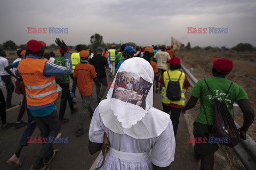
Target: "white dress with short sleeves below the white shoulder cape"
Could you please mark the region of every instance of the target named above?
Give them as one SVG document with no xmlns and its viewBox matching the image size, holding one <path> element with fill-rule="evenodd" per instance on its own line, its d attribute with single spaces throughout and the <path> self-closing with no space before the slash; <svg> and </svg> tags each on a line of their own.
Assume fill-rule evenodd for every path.
<svg viewBox="0 0 256 170">
<path fill-rule="evenodd" d="M 174 160 L 175 138 L 173 134 L 172 122 L 169 121 L 166 129 L 156 138 L 135 139 L 127 134 L 118 134 L 106 128 L 103 124 L 99 106 L 95 109 L 92 117 L 89 139 L 95 143 L 103 142 L 104 132 L 107 133 L 111 148 L 129 153 L 143 153 L 151 150 L 151 155 L 148 159 L 133 161 L 118 159 L 109 154 L 106 155 L 105 164 L 101 169 L 117 169 L 117 170 L 148 170 L 153 169 L 153 165 L 165 167 L 169 166 Z M 101 154 L 97 167 L 102 163 L 103 156 Z"/>
</svg>

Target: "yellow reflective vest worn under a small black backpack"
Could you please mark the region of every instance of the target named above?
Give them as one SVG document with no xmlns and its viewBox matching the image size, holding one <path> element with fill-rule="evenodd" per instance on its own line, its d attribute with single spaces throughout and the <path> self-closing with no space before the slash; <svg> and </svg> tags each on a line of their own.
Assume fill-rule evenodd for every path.
<svg viewBox="0 0 256 170">
<path fill-rule="evenodd" d="M 178 79 L 180 77 L 180 73 L 181 72 L 179 70 L 169 70 L 170 79 L 172 81 L 178 81 Z M 186 89 L 183 88 L 183 83 L 185 81 L 185 73 L 182 73 L 182 75 L 180 77 L 181 98 L 178 101 L 169 100 L 169 98 L 167 98 L 167 96 L 166 96 L 166 88 L 167 88 L 168 82 L 170 81 L 167 71 L 164 72 L 163 78 L 164 78 L 164 86 L 165 87 L 162 87 L 162 98 L 161 98 L 162 103 L 164 103 L 164 104 L 172 103 L 172 104 L 184 106 L 185 105 L 185 94 L 184 93 L 186 92 Z"/>
</svg>

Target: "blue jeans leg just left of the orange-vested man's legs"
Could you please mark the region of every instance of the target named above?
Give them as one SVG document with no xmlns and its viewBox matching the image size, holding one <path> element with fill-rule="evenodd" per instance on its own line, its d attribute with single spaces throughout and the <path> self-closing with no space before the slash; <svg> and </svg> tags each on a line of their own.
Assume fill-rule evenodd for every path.
<svg viewBox="0 0 256 170">
<path fill-rule="evenodd" d="M 27 128 L 24 130 L 22 137 L 20 139 L 19 145 L 21 145 L 21 146 L 28 146 L 28 137 L 31 137 L 34 130 L 36 129 L 36 122 L 31 123 L 32 121 L 35 120 L 35 117 L 33 115 L 31 115 L 31 113 L 29 112 L 29 109 L 27 108 L 27 99 L 25 101 L 25 107 L 26 107 L 27 115 L 28 115 L 28 125 L 27 125 Z"/>
</svg>

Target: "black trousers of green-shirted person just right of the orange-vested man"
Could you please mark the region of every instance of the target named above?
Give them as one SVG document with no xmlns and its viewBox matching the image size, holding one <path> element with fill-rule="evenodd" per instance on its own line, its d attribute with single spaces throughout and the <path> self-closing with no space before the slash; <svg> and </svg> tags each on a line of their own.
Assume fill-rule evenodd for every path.
<svg viewBox="0 0 256 170">
<path fill-rule="evenodd" d="M 60 86 L 62 88 L 61 92 L 61 99 L 60 99 L 60 115 L 59 118 L 60 120 L 63 120 L 64 114 L 66 112 L 67 108 L 67 101 L 70 107 L 70 111 L 74 111 L 74 105 L 72 98 L 70 97 L 70 90 L 69 90 L 69 83 L 63 84 Z"/>
</svg>

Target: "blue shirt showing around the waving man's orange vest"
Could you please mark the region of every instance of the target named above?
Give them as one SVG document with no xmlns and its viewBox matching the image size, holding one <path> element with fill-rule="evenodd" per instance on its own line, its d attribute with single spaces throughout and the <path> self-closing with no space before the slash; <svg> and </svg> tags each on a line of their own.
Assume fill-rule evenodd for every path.
<svg viewBox="0 0 256 170">
<path fill-rule="evenodd" d="M 71 57 L 69 53 L 65 53 L 65 66 L 60 66 L 54 63 L 51 63 L 50 61 L 47 61 L 44 65 L 43 75 L 45 77 L 51 77 L 51 75 L 66 75 L 66 74 L 72 74 L 72 63 L 71 63 Z M 41 57 L 38 57 L 34 54 L 29 54 L 28 56 L 23 57 L 25 58 L 39 58 L 43 60 Z M 18 62 L 15 62 L 18 63 Z M 13 63 L 15 65 L 15 63 Z M 19 75 L 19 71 L 16 72 L 16 75 Z M 42 105 L 42 106 L 30 106 L 28 105 L 28 109 L 31 112 L 33 116 L 36 117 L 43 117 L 51 114 L 53 111 L 56 110 L 56 106 L 54 105 L 54 102 Z"/>
</svg>

